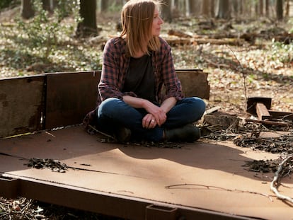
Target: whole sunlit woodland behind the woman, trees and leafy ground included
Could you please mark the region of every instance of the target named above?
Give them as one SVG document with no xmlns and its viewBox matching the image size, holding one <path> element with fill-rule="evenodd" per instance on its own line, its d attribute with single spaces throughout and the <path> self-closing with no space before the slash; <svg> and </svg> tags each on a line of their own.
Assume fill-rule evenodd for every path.
<svg viewBox="0 0 293 220">
<path fill-rule="evenodd" d="M 176 69 L 208 73 L 207 108 L 243 114 L 246 98 L 257 95 L 272 98 L 274 110 L 293 111 L 292 1 L 165 2 L 161 36 L 172 47 Z M 123 4 L 124 0 L 1 0 L 0 79 L 100 70 L 105 42 L 119 33 Z M 15 219 L 16 203 L 31 207 L 31 219 L 34 214 L 102 219 L 56 207 L 44 210 L 25 198 L 0 197 L 0 202 L 9 207 L 6 216 Z"/>
</svg>

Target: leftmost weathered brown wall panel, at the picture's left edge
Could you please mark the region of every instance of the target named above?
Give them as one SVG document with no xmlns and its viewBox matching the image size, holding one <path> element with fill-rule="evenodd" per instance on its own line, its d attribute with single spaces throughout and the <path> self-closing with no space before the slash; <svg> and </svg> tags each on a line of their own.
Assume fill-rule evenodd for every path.
<svg viewBox="0 0 293 220">
<path fill-rule="evenodd" d="M 0 80 L 0 137 L 41 129 L 45 76 Z"/>
</svg>

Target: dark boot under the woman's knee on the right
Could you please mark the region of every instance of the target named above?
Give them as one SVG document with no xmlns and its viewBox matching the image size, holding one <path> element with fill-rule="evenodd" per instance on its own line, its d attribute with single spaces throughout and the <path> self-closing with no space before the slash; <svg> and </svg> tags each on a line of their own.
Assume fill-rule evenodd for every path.
<svg viewBox="0 0 293 220">
<path fill-rule="evenodd" d="M 200 138 L 200 129 L 194 125 L 165 129 L 165 137 L 166 141 L 193 142 Z"/>
</svg>

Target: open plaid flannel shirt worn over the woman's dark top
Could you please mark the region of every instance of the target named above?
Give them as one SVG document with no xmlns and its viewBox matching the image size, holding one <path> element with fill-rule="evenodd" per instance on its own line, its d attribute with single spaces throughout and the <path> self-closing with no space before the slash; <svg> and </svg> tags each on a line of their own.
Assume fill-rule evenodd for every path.
<svg viewBox="0 0 293 220">
<path fill-rule="evenodd" d="M 166 98 L 174 97 L 176 100 L 183 98 L 180 80 L 175 71 L 171 47 L 159 37 L 161 49 L 152 52 L 151 63 L 154 69 L 156 101 L 161 103 Z M 108 40 L 103 52 L 103 67 L 98 83 L 97 108 L 107 98 L 119 98 L 124 95 L 137 97 L 133 92 L 122 93 L 125 76 L 130 66 L 130 56 L 127 55 L 125 40 L 114 37 Z M 161 94 L 164 87 L 165 94 Z M 96 109 L 97 109 L 96 108 Z M 84 118 L 84 126 L 94 125 L 96 110 L 93 110 Z"/>
</svg>

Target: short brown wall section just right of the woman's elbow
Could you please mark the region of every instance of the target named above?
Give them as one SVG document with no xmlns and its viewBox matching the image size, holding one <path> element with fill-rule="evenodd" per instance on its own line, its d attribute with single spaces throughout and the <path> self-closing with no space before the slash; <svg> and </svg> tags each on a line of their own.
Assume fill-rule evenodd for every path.
<svg viewBox="0 0 293 220">
<path fill-rule="evenodd" d="M 207 73 L 200 69 L 177 70 L 186 97 L 200 97 L 209 99 L 209 82 Z"/>
</svg>

